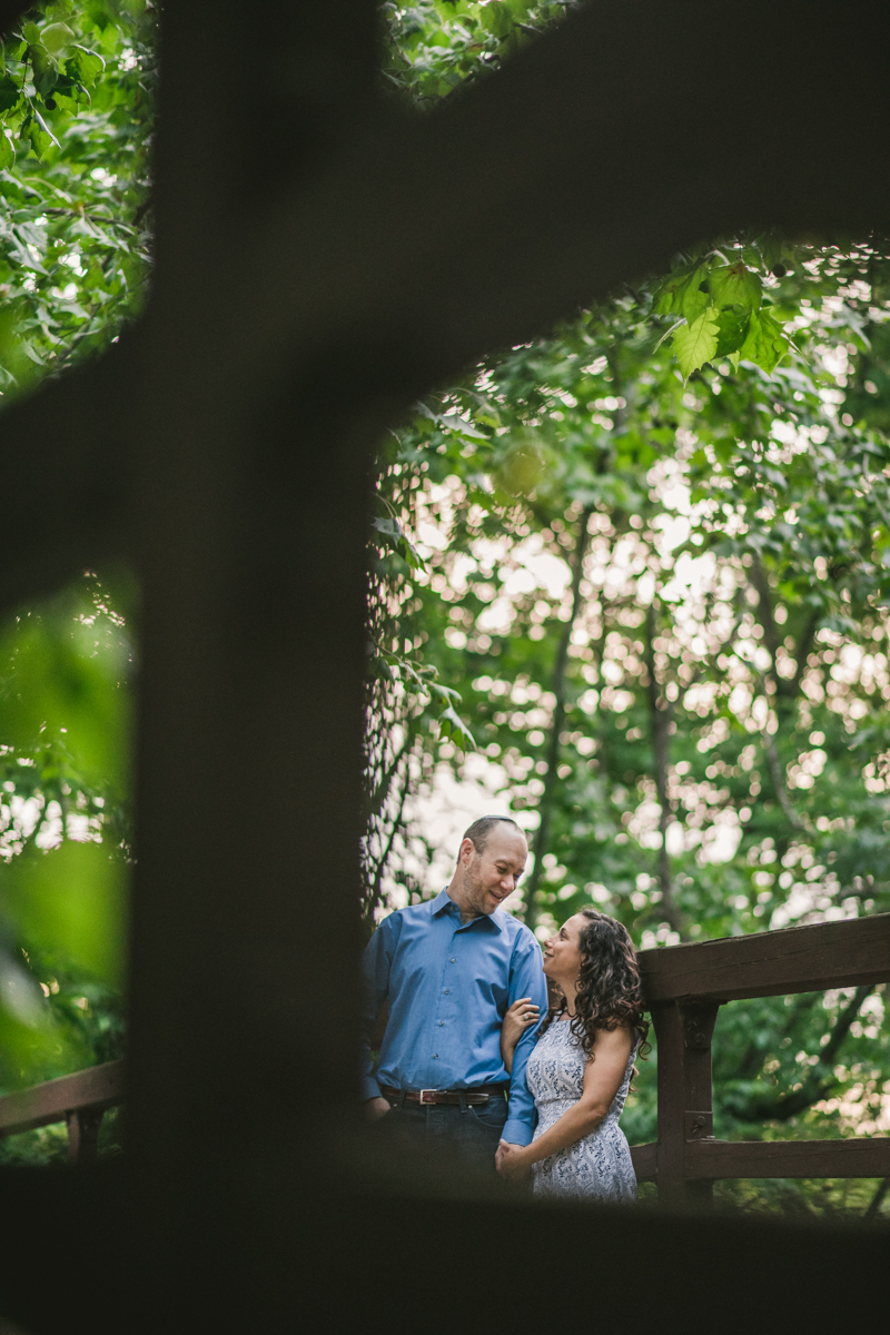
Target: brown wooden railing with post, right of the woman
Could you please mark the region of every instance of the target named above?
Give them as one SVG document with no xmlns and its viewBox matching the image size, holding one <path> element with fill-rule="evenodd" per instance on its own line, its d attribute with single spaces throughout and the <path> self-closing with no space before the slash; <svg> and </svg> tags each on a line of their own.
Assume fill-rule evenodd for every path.
<svg viewBox="0 0 890 1335">
<path fill-rule="evenodd" d="M 717 1140 L 711 1036 L 742 997 L 890 981 L 890 913 L 640 951 L 658 1044 L 658 1141 L 634 1145 L 640 1181 L 666 1204 L 707 1204 L 723 1177 L 890 1177 L 890 1137 Z"/>
</svg>

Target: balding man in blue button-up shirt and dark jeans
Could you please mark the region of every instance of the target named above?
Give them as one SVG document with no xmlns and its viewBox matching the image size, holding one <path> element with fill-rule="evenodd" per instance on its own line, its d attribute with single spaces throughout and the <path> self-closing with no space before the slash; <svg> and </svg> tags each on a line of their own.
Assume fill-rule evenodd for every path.
<svg viewBox="0 0 890 1335">
<path fill-rule="evenodd" d="M 535 1125 L 526 1063 L 536 1025 L 516 1045 L 512 1079 L 500 1056 L 500 1025 L 514 1001 L 530 997 L 540 1016 L 547 1012 L 538 941 L 500 908 L 527 857 L 515 821 L 474 821 L 451 884 L 438 898 L 384 918 L 363 961 L 368 1116 L 394 1119 L 388 1131 L 399 1140 L 440 1144 L 491 1173 L 499 1141 L 527 1145 Z M 370 1033 L 384 1005 L 375 1068 Z"/>
</svg>

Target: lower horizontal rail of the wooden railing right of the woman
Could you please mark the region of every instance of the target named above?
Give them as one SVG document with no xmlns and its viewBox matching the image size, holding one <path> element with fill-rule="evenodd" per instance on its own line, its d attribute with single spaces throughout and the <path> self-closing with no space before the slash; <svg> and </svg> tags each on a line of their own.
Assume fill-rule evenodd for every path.
<svg viewBox="0 0 890 1335">
<path fill-rule="evenodd" d="M 644 1147 L 648 1148 L 648 1147 Z M 691 1180 L 721 1177 L 890 1177 L 890 1136 L 857 1140 L 698 1140 L 685 1152 Z"/>
</svg>

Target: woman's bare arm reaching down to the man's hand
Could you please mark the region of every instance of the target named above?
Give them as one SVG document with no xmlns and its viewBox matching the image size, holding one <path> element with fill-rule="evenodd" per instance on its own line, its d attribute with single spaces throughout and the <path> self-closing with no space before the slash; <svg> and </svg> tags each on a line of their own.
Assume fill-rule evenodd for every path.
<svg viewBox="0 0 890 1335">
<path fill-rule="evenodd" d="M 578 1103 L 566 1109 L 562 1117 L 530 1145 L 519 1148 L 504 1145 L 502 1141 L 498 1171 L 507 1177 L 527 1172 L 532 1164 L 588 1136 L 607 1115 L 612 1099 L 622 1087 L 634 1043 L 635 1037 L 630 1029 L 600 1029 L 592 1059 L 584 1071 L 583 1091 Z"/>
</svg>

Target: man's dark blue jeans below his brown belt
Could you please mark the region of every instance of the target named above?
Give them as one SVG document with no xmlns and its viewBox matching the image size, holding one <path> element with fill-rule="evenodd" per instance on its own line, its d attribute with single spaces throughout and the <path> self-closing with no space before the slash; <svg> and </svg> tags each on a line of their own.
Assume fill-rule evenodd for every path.
<svg viewBox="0 0 890 1335">
<path fill-rule="evenodd" d="M 410 1156 L 446 1155 L 474 1175 L 495 1176 L 495 1152 L 507 1120 L 507 1100 L 492 1093 L 488 1103 L 467 1105 L 427 1104 L 407 1100 L 392 1107 L 378 1124 L 398 1152 Z"/>
</svg>

